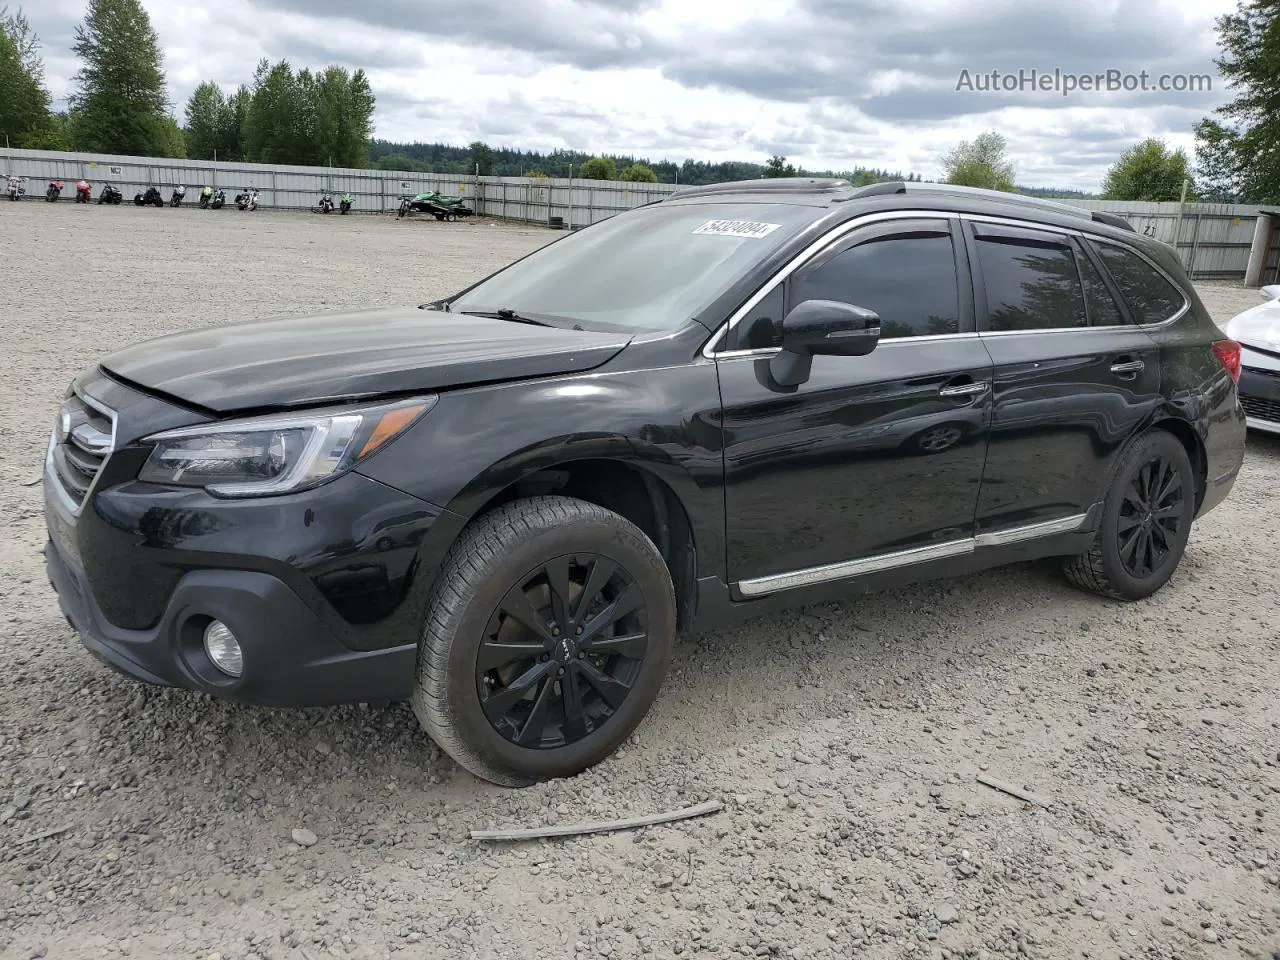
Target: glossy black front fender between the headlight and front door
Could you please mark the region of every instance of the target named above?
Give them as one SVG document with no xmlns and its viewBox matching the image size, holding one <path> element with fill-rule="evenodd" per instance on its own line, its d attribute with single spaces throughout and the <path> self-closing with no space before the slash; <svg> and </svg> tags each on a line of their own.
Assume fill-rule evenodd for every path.
<svg viewBox="0 0 1280 960">
<path fill-rule="evenodd" d="M 621 463 L 662 481 L 689 521 L 699 575 L 723 575 L 719 416 L 710 362 L 607 365 L 445 390 L 421 421 L 358 471 L 444 508 L 444 522 L 422 543 L 424 575 L 462 526 L 513 484 L 582 461 Z"/>
</svg>

